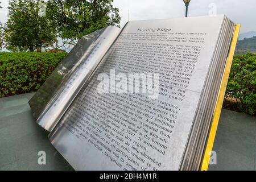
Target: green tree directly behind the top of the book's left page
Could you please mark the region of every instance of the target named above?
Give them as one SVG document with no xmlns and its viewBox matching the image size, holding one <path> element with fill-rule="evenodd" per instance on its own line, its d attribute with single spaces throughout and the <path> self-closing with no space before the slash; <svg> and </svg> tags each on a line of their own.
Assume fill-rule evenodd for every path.
<svg viewBox="0 0 256 182">
<path fill-rule="evenodd" d="M 60 38 L 74 44 L 86 34 L 109 25 L 119 26 L 113 0 L 49 0 L 47 10 Z"/>
</svg>

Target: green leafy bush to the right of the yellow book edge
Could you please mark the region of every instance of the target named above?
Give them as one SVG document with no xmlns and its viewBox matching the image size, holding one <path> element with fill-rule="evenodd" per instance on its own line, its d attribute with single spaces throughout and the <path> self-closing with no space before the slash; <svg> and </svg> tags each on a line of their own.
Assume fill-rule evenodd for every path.
<svg viewBox="0 0 256 182">
<path fill-rule="evenodd" d="M 234 56 L 224 108 L 256 115 L 256 54 Z"/>
</svg>

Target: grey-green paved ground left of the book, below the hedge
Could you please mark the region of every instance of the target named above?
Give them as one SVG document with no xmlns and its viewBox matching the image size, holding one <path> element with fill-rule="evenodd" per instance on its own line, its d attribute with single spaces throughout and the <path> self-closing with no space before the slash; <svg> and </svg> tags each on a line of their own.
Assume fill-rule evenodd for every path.
<svg viewBox="0 0 256 182">
<path fill-rule="evenodd" d="M 33 94 L 0 99 L 0 170 L 73 170 L 32 117 Z M 46 165 L 38 164 L 39 151 L 46 152 Z"/>
</svg>

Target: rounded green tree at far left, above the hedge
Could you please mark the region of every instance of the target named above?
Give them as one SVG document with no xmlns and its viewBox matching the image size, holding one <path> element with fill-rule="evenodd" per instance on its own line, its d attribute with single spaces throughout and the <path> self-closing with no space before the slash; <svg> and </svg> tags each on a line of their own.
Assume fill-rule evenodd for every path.
<svg viewBox="0 0 256 182">
<path fill-rule="evenodd" d="M 39 0 L 10 0 L 6 23 L 6 48 L 11 51 L 41 51 L 52 46 L 56 29 L 47 16 L 39 16 Z"/>
</svg>

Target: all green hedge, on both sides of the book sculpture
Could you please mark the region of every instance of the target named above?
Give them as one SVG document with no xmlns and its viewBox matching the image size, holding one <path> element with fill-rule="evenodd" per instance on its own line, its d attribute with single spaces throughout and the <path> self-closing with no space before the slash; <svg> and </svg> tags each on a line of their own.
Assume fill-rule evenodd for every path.
<svg viewBox="0 0 256 182">
<path fill-rule="evenodd" d="M 0 97 L 33 92 L 67 53 L 0 52 Z M 256 54 L 234 56 L 224 108 L 256 114 Z"/>
</svg>

